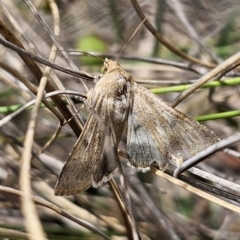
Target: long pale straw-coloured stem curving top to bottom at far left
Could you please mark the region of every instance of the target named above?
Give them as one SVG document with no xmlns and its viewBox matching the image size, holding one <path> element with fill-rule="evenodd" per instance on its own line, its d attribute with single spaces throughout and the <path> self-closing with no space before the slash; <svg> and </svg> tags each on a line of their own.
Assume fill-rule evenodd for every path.
<svg viewBox="0 0 240 240">
<path fill-rule="evenodd" d="M 52 11 L 55 14 L 54 18 L 54 25 L 55 27 L 55 34 L 60 34 L 60 28 L 59 28 L 59 12 L 57 5 L 52 0 L 49 0 L 51 9 L 55 9 Z M 58 17 L 56 17 L 56 15 Z M 58 19 L 58 20 L 56 20 Z M 50 52 L 50 61 L 54 61 L 56 58 L 56 45 L 53 45 L 51 52 Z M 48 77 L 50 75 L 51 68 L 46 67 L 43 77 L 40 81 L 40 85 L 38 87 L 38 93 L 36 97 L 36 101 L 32 110 L 31 114 L 31 120 L 28 125 L 28 130 L 26 133 L 26 138 L 24 141 L 24 149 L 22 153 L 22 163 L 20 168 L 20 179 L 19 179 L 19 185 L 20 189 L 23 192 L 22 195 L 22 211 L 24 215 L 25 220 L 25 226 L 27 231 L 32 235 L 30 236 L 30 239 L 36 239 L 36 240 L 44 240 L 46 239 L 45 233 L 43 231 L 42 225 L 40 223 L 35 204 L 31 197 L 31 180 L 30 180 L 30 164 L 31 164 L 31 158 L 32 158 L 32 146 L 34 141 L 34 134 L 35 134 L 35 128 L 37 124 L 37 118 L 38 118 L 38 112 L 39 108 L 42 102 L 42 98 L 44 95 L 44 91 L 47 85 Z"/>
</svg>

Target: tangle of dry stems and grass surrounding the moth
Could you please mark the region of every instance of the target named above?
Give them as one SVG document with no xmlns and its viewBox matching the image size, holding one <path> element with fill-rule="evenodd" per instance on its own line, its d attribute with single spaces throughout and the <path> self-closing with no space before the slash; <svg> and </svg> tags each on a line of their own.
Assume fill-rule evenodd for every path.
<svg viewBox="0 0 240 240">
<path fill-rule="evenodd" d="M 116 59 L 144 13 L 148 19 L 120 56 L 122 67 L 174 106 L 180 103 L 174 99 L 189 84 L 211 81 L 177 108 L 225 139 L 226 150 L 178 179 L 172 177 L 173 167 L 165 173 L 154 166 L 149 172 L 136 173 L 122 157 L 128 192 L 117 173 L 97 189 L 56 197 L 54 186 L 87 111 L 80 112 L 80 121 L 75 112 L 81 101 L 55 95 L 41 105 L 41 94 L 59 89 L 86 94 L 86 88 L 82 80 L 36 63 L 1 41 L 0 238 L 240 239 L 240 4 L 234 0 L 141 0 L 137 10 L 135 0 L 56 2 L 1 1 L 1 39 L 24 46 L 66 71 L 75 63 L 97 75 L 101 67 L 92 65 L 92 58 L 80 59 L 81 53 L 57 49 L 73 49 L 90 36 L 101 42 L 104 52 L 96 52 L 97 43 L 77 50 Z M 88 89 L 94 86 L 93 81 L 85 82 Z M 13 115 L 32 100 L 34 107 Z M 63 127 L 57 135 L 59 126 Z M 123 136 L 122 151 L 125 142 Z"/>
</svg>

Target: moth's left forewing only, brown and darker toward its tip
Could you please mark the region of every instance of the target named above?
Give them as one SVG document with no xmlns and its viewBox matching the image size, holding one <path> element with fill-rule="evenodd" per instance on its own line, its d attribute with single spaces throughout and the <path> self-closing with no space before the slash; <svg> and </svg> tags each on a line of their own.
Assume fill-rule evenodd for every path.
<svg viewBox="0 0 240 240">
<path fill-rule="evenodd" d="M 91 131 L 95 132 L 94 135 Z M 55 195 L 70 195 L 84 191 L 92 185 L 94 164 L 102 152 L 103 145 L 94 145 L 95 141 L 103 139 L 103 130 L 98 121 L 90 115 L 86 125 L 74 145 L 68 160 L 64 164 L 55 187 Z M 90 157 L 91 156 L 91 157 Z"/>
</svg>

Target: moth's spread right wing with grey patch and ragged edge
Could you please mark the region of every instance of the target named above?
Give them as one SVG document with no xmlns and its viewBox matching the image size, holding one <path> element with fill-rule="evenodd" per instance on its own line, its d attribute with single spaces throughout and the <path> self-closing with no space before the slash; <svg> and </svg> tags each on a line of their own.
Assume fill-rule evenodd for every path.
<svg viewBox="0 0 240 240">
<path fill-rule="evenodd" d="M 219 141 L 207 127 L 170 107 L 146 88 L 134 86 L 128 118 L 127 149 L 136 169 L 157 162 L 164 170 L 171 155 L 187 150 L 190 156 Z"/>
</svg>

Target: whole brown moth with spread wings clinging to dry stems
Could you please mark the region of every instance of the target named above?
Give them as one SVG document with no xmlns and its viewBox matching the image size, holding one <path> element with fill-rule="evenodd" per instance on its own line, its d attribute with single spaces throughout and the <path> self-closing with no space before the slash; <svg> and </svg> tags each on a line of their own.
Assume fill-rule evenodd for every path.
<svg viewBox="0 0 240 240">
<path fill-rule="evenodd" d="M 90 114 L 66 161 L 55 195 L 71 195 L 107 182 L 117 169 L 117 147 L 127 130 L 130 164 L 165 170 L 172 156 L 190 156 L 218 141 L 207 127 L 138 85 L 116 61 L 105 59 L 104 75 L 87 97 Z"/>
</svg>

